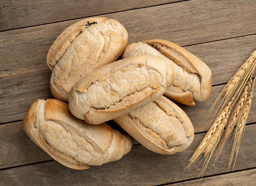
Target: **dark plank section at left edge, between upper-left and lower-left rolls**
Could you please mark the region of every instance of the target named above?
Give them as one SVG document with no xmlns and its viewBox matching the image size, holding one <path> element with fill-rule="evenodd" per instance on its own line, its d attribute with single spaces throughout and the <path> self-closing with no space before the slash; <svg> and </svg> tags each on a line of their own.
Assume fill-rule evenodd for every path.
<svg viewBox="0 0 256 186">
<path fill-rule="evenodd" d="M 0 79 L 0 123 L 22 120 L 36 99 L 52 98 L 51 71 L 44 70 Z"/>
</svg>

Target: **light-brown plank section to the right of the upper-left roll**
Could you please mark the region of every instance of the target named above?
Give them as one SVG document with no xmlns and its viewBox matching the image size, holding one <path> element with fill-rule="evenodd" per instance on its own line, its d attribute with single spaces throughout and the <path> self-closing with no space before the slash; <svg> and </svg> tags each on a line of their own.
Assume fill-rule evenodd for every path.
<svg viewBox="0 0 256 186">
<path fill-rule="evenodd" d="M 109 16 L 118 15 L 128 33 L 137 36 L 128 42 L 157 38 L 185 46 L 255 34 L 255 6 L 243 0 L 191 0 Z"/>
</svg>

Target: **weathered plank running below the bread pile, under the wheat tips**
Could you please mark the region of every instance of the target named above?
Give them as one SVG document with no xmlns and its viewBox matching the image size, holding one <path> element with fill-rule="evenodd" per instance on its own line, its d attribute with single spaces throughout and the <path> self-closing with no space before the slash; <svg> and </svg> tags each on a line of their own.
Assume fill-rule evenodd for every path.
<svg viewBox="0 0 256 186">
<path fill-rule="evenodd" d="M 256 124 L 245 128 L 235 171 L 256 166 L 255 132 Z M 102 166 L 91 166 L 84 171 L 67 168 L 56 161 L 4 169 L 0 170 L 0 184 L 153 186 L 195 179 L 199 176 L 202 164 L 199 165 L 197 162 L 189 172 L 185 172 L 184 168 L 203 136 L 204 133 L 197 134 L 191 147 L 182 153 L 159 155 L 148 151 L 141 145 L 136 145 L 121 160 Z M 205 176 L 229 172 L 228 162 L 231 149 L 228 145 L 223 149 L 218 162 L 214 166 L 211 164 L 208 166 Z"/>
</svg>

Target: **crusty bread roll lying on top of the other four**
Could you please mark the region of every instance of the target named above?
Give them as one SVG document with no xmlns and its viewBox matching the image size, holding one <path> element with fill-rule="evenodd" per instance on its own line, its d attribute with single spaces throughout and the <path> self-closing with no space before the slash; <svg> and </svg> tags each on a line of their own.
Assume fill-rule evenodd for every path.
<svg viewBox="0 0 256 186">
<path fill-rule="evenodd" d="M 115 61 L 74 85 L 70 111 L 87 123 L 103 123 L 159 98 L 174 76 L 173 68 L 161 57 L 141 55 Z"/>
</svg>

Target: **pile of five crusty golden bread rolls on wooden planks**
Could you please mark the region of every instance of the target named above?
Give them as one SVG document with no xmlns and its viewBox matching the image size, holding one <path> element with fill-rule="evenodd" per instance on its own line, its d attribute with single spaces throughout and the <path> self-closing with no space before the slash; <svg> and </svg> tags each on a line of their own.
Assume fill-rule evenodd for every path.
<svg viewBox="0 0 256 186">
<path fill-rule="evenodd" d="M 191 145 L 191 120 L 173 101 L 206 101 L 211 70 L 168 41 L 127 43 L 122 24 L 96 17 L 69 26 L 52 44 L 47 65 L 55 99 L 34 101 L 23 129 L 54 160 L 74 169 L 116 161 L 131 150 L 130 136 L 160 154 Z"/>
</svg>

